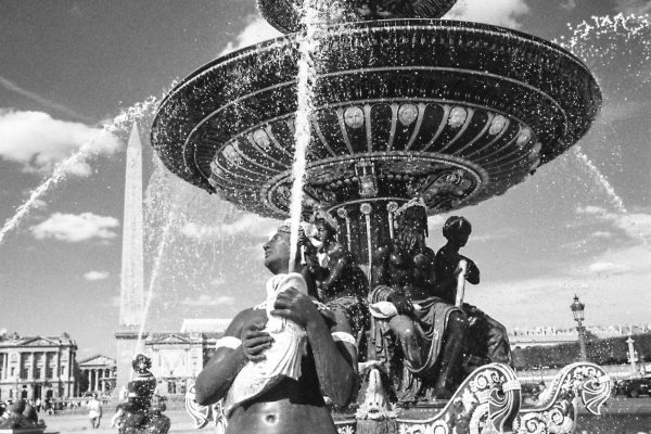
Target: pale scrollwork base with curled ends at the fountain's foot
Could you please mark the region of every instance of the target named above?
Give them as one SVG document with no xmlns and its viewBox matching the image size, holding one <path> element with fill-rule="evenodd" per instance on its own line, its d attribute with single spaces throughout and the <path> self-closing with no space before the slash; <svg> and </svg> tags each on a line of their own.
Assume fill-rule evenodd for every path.
<svg viewBox="0 0 651 434">
<path fill-rule="evenodd" d="M 360 371 L 365 367 L 360 367 Z M 375 370 L 376 371 L 376 370 Z M 370 370 L 361 404 L 333 412 L 339 434 L 572 434 L 578 399 L 591 414 L 611 394 L 612 381 L 595 363 L 576 362 L 563 368 L 533 406 L 522 406 L 521 385 L 511 368 L 492 363 L 473 372 L 449 400 L 396 408 Z M 186 409 L 200 429 L 214 423 L 222 433 L 226 420 L 220 405 L 202 407 L 194 391 L 186 396 Z M 356 409 L 356 410 L 355 410 Z"/>
</svg>

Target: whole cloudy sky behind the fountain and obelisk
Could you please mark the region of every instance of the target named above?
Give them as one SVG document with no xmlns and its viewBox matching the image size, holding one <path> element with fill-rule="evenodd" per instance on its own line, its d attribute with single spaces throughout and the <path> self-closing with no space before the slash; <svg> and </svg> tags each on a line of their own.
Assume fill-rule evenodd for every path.
<svg viewBox="0 0 651 434">
<path fill-rule="evenodd" d="M 651 322 L 649 12 L 641 0 L 460 0 L 448 16 L 570 46 L 604 95 L 578 148 L 454 213 L 473 225 L 462 253 L 482 270 L 467 299 L 508 328 L 573 327 L 575 293 L 587 326 Z M 146 143 L 175 80 L 277 35 L 254 0 L 0 0 L 0 224 L 58 164 L 91 155 L 60 170 L 0 241 L 0 329 L 67 332 L 79 357 L 114 355 L 135 114 L 143 113 Z M 178 331 L 184 318 L 230 318 L 258 303 L 261 245 L 276 221 L 183 184 L 146 144 L 144 159 L 146 330 Z M 430 218 L 434 250 L 446 217 Z"/>
</svg>

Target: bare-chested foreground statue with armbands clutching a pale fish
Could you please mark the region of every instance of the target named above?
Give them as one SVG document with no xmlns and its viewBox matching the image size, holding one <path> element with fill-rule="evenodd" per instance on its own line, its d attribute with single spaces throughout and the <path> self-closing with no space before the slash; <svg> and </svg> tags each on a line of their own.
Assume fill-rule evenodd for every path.
<svg viewBox="0 0 651 434">
<path fill-rule="evenodd" d="M 283 225 L 264 245 L 275 276 L 267 299 L 238 314 L 195 384 L 196 401 L 224 399 L 226 433 L 334 434 L 323 394 L 345 406 L 357 387 L 357 350 L 350 326 L 307 294 L 290 273 L 290 233 Z M 301 258 L 292 258 L 301 270 Z"/>
</svg>

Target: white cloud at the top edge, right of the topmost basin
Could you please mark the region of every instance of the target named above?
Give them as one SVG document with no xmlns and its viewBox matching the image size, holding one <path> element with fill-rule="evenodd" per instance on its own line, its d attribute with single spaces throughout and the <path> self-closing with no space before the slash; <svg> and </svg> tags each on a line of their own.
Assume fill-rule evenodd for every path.
<svg viewBox="0 0 651 434">
<path fill-rule="evenodd" d="M 518 18 L 528 12 L 526 0 L 460 0 L 445 17 L 520 28 Z"/>
</svg>

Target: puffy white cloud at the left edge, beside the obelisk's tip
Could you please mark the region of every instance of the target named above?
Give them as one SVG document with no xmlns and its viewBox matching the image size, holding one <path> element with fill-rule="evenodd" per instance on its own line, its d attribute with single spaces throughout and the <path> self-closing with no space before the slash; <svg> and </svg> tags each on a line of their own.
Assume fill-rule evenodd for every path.
<svg viewBox="0 0 651 434">
<path fill-rule="evenodd" d="M 101 128 L 53 119 L 42 112 L 0 110 L 0 158 L 20 163 L 26 171 L 51 173 L 78 150 L 111 155 L 122 148 L 116 137 Z M 88 176 L 92 170 L 80 158 L 66 171 Z"/>
</svg>

